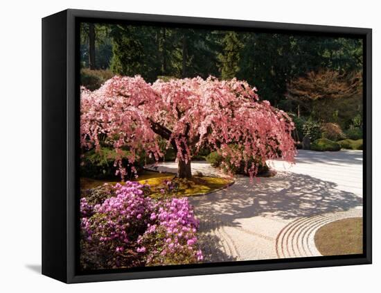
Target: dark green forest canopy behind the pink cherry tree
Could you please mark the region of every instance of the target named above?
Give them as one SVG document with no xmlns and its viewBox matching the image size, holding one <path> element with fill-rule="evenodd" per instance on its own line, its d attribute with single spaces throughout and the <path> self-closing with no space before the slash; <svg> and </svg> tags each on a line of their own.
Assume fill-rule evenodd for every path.
<svg viewBox="0 0 381 293">
<path fill-rule="evenodd" d="M 82 63 L 89 66 L 89 24 L 81 26 Z M 256 85 L 261 99 L 285 106 L 287 84 L 319 69 L 362 69 L 362 40 L 285 33 L 95 24 L 96 68 L 159 77 L 237 77 Z M 106 66 L 106 67 L 105 67 Z"/>
</svg>

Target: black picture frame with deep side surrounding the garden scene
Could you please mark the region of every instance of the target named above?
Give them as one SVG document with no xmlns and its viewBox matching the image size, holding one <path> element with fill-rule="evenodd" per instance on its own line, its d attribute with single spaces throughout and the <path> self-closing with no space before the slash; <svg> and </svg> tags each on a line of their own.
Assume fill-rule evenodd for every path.
<svg viewBox="0 0 381 293">
<path fill-rule="evenodd" d="M 132 22 L 200 28 L 360 37 L 364 40 L 364 253 L 150 267 L 80 274 L 78 260 L 78 22 Z M 42 274 L 65 283 L 362 265 L 372 261 L 372 31 L 370 28 L 283 24 L 125 12 L 64 10 L 42 19 Z M 78 192 L 77 192 L 78 193 Z"/>
</svg>

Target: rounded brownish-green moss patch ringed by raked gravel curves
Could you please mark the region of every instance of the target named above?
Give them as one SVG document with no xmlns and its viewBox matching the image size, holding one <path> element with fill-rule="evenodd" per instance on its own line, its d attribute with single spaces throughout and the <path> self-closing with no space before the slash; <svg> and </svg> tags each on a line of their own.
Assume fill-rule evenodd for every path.
<svg viewBox="0 0 381 293">
<path fill-rule="evenodd" d="M 319 228 L 314 237 L 323 256 L 362 253 L 362 218 L 334 221 Z"/>
</svg>

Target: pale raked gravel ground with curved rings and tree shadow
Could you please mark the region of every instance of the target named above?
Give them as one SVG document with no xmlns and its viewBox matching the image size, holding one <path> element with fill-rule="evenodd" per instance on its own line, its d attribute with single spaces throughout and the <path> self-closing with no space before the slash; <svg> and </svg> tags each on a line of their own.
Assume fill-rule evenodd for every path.
<svg viewBox="0 0 381 293">
<path fill-rule="evenodd" d="M 200 219 L 206 262 L 320 256 L 314 233 L 324 224 L 362 217 L 362 151 L 300 150 L 294 165 L 269 161 L 276 176 L 237 176 L 225 190 L 190 197 Z M 175 162 L 159 164 L 175 172 Z M 217 175 L 207 162 L 193 172 Z"/>
</svg>

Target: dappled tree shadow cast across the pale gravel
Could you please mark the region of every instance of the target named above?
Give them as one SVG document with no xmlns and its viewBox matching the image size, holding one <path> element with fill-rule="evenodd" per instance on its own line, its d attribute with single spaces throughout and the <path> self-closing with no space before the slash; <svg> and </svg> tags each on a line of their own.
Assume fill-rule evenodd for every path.
<svg viewBox="0 0 381 293">
<path fill-rule="evenodd" d="M 240 226 L 235 220 L 242 218 L 294 219 L 362 206 L 360 196 L 335 187 L 333 182 L 283 171 L 272 178 L 260 178 L 258 183 L 239 177 L 225 190 L 190 201 L 197 217 L 210 229 L 218 228 L 218 223 Z M 208 225 L 210 221 L 213 224 Z"/>
</svg>

